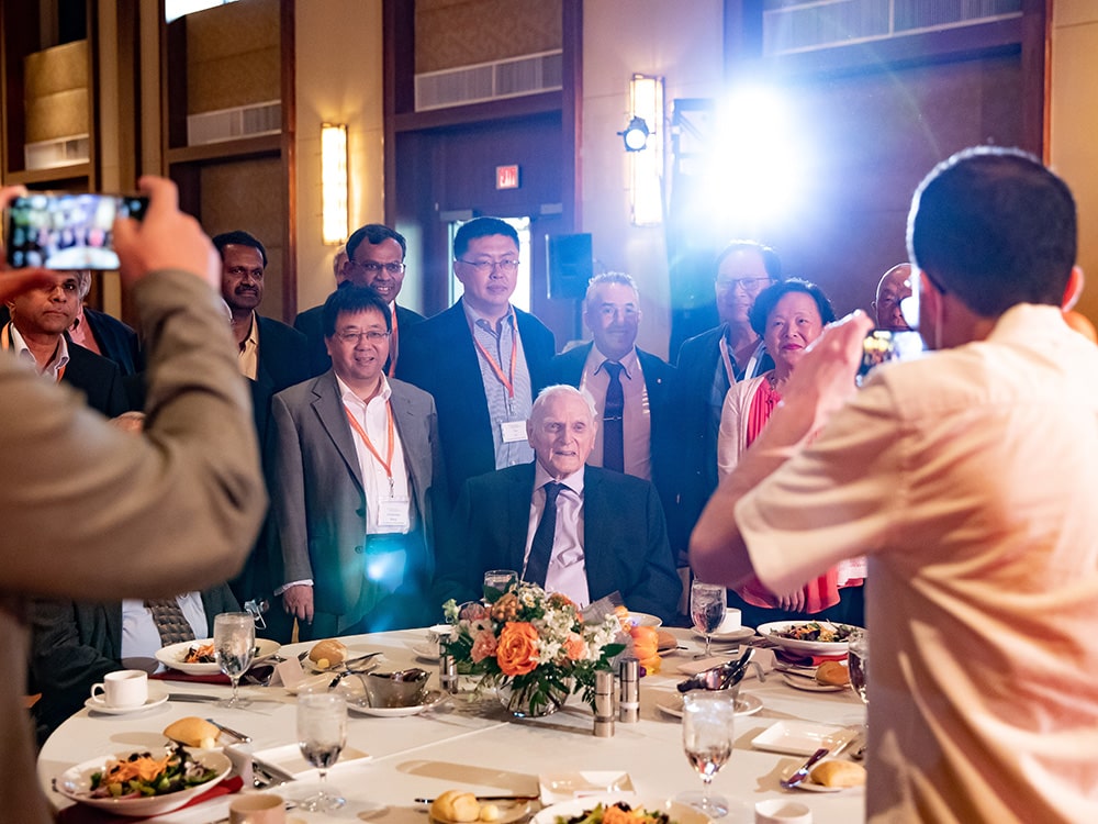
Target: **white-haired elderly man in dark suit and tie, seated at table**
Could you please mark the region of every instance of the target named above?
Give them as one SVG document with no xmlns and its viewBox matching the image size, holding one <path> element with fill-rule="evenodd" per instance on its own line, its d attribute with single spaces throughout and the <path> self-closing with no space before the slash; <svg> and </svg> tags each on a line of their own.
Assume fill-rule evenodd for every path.
<svg viewBox="0 0 1098 824">
<path fill-rule="evenodd" d="M 630 610 L 675 616 L 682 583 L 659 495 L 584 465 L 597 428 L 590 396 L 567 386 L 538 396 L 527 423 L 537 458 L 462 487 L 436 600 L 479 598 L 485 570 L 514 569 L 581 606 L 620 592 Z"/>
</svg>

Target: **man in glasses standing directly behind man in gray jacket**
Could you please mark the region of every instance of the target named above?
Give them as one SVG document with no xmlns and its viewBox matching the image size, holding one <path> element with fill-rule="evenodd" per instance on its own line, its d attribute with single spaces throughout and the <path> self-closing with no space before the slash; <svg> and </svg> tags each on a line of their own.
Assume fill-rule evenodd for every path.
<svg viewBox="0 0 1098 824">
<path fill-rule="evenodd" d="M 389 364 L 385 374 L 392 378 L 396 374 L 396 359 L 401 350 L 401 334 L 426 319 L 418 312 L 396 303 L 396 297 L 404 286 L 404 256 L 407 241 L 400 232 L 380 223 L 369 223 L 355 230 L 347 238 L 344 255 L 336 254 L 336 287 L 343 283 L 369 286 L 389 304 L 393 313 L 393 335 L 389 346 Z M 293 322 L 294 329 L 309 338 L 309 359 L 314 375 L 320 375 L 332 366 L 324 346 L 323 307 L 314 307 L 301 312 Z"/>
</svg>

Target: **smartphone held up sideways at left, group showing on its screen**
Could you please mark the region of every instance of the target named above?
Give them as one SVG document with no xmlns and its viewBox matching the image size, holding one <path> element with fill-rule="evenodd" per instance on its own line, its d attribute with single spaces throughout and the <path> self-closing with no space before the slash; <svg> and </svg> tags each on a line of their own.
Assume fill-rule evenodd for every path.
<svg viewBox="0 0 1098 824">
<path fill-rule="evenodd" d="M 115 216 L 141 220 L 147 198 L 126 194 L 34 192 L 8 207 L 8 265 L 47 269 L 119 268 Z"/>
</svg>

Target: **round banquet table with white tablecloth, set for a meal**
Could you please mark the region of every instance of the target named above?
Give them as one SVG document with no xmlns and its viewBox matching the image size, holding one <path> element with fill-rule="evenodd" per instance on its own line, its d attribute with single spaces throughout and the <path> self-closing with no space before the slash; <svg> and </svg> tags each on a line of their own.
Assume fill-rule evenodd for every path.
<svg viewBox="0 0 1098 824">
<path fill-rule="evenodd" d="M 628 772 L 635 790 L 646 799 L 673 798 L 697 790 L 701 779 L 683 755 L 681 723 L 657 705 L 661 697 L 674 693 L 675 683 L 684 678 L 677 667 L 691 662 L 701 649 L 701 642 L 694 639 L 691 631 L 672 632 L 680 646 L 686 648 L 665 655 L 661 673 L 641 679 L 640 722 L 619 721 L 609 738 L 593 735 L 591 710 L 575 695 L 556 714 L 534 720 L 512 720 L 492 693 L 473 701 L 459 694 L 435 710 L 406 717 L 350 713 L 348 749 L 370 757 L 337 764 L 328 775 L 332 786 L 348 799 L 347 805 L 328 814 L 293 810 L 289 820 L 428 824 L 426 808 L 414 799 L 433 798 L 448 789 L 479 795 L 537 794 L 539 775 L 585 770 Z M 411 648 L 425 644 L 424 630 L 356 635 L 343 641 L 351 656 L 382 650 L 384 660 L 380 671 L 421 666 L 433 672 L 430 686 L 437 686 L 437 665 L 418 659 Z M 283 655 L 289 657 L 310 646 L 290 645 L 283 647 Z M 172 693 L 228 693 L 227 687 L 159 683 Z M 161 731 L 187 715 L 211 717 L 253 736 L 256 751 L 295 744 L 295 699 L 285 689 L 242 687 L 240 692 L 251 699 L 250 706 L 225 710 L 212 703 L 168 701 L 126 715 L 81 710 L 61 724 L 42 748 L 37 771 L 43 791 L 56 809 L 68 806 L 71 802 L 51 789 L 55 777 L 99 756 L 161 746 L 165 743 Z M 777 672 L 772 672 L 764 682 L 753 675 L 747 678 L 741 694 L 761 700 L 762 709 L 736 719 L 732 757 L 713 782 L 713 792 L 729 799 L 733 808 L 729 816 L 719 821 L 751 822 L 754 803 L 772 798 L 807 805 L 815 824 L 864 821 L 864 788 L 833 793 L 782 790 L 780 778 L 803 762 L 804 757 L 763 751 L 751 745 L 752 738 L 780 720 L 860 727 L 865 721 L 865 710 L 854 693 L 849 689 L 796 690 Z M 303 789 L 291 783 L 276 791 L 293 798 L 307 794 L 295 793 Z M 219 822 L 227 819 L 227 806 L 228 802 L 222 798 L 157 820 L 178 824 Z"/>
</svg>

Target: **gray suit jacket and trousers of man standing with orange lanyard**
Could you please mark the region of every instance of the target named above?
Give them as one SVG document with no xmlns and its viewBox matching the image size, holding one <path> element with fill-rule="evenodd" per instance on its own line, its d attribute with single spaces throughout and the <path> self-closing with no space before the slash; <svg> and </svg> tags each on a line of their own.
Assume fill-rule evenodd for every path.
<svg viewBox="0 0 1098 824">
<path fill-rule="evenodd" d="M 335 372 L 279 392 L 271 404 L 267 463 L 274 580 L 281 586 L 312 579 L 315 610 L 334 616 L 335 634 L 363 616 L 371 630 L 423 626 L 426 617 L 425 595 L 435 565 L 436 499 L 446 499 L 435 403 L 413 386 L 389 383 L 423 527 L 418 554 L 408 559 L 405 583 L 394 595 L 368 589 L 366 492 Z M 304 639 L 318 631 L 318 622 L 299 625 Z"/>
</svg>

